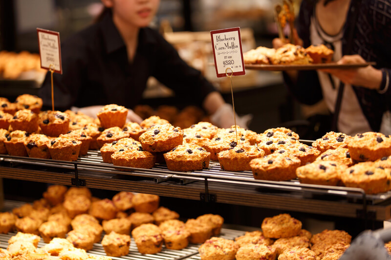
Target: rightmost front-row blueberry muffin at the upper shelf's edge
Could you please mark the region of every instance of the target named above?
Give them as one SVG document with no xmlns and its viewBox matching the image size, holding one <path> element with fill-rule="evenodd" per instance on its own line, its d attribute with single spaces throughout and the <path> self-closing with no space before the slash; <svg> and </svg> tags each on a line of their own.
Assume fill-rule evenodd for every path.
<svg viewBox="0 0 391 260">
<path fill-rule="evenodd" d="M 361 188 L 367 194 L 376 194 L 390 189 L 390 173 L 390 168 L 367 161 L 350 166 L 341 173 L 341 180 L 347 187 Z"/>
</svg>

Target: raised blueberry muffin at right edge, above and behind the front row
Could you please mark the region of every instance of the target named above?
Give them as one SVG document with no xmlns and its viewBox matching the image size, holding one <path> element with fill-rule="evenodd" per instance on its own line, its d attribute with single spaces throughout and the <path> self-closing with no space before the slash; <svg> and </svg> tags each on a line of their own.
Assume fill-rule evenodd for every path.
<svg viewBox="0 0 391 260">
<path fill-rule="evenodd" d="M 391 155 L 391 139 L 382 133 L 357 134 L 348 142 L 348 149 L 353 160 L 375 161 Z"/>
</svg>

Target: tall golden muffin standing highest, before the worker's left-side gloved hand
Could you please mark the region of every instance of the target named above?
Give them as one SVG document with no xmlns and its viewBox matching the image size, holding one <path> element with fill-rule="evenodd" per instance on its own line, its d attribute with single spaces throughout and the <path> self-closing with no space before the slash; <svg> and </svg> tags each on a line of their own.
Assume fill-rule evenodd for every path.
<svg viewBox="0 0 391 260">
<path fill-rule="evenodd" d="M 109 104 L 102 107 L 96 116 L 103 128 L 123 127 L 128 116 L 128 109 L 116 104 Z"/>
</svg>

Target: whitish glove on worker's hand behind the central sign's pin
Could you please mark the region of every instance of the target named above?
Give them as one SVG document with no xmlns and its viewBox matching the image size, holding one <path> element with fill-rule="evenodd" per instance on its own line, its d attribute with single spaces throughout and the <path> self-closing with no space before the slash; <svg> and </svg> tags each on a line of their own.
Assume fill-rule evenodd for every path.
<svg viewBox="0 0 391 260">
<path fill-rule="evenodd" d="M 236 114 L 236 124 L 242 128 L 247 129 L 250 121 L 253 119 L 253 115 L 247 114 L 239 117 Z M 232 105 L 225 103 L 220 106 L 217 111 L 211 116 L 211 121 L 214 125 L 220 128 L 230 128 L 232 125 L 235 125 L 234 120 L 234 109 Z"/>
</svg>

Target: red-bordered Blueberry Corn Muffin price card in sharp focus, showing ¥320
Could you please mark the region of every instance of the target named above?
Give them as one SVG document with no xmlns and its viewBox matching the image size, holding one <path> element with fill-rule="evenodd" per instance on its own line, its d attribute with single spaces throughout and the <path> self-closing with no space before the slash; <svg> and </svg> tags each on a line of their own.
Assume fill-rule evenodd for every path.
<svg viewBox="0 0 391 260">
<path fill-rule="evenodd" d="M 245 75 L 240 28 L 211 31 L 211 38 L 217 78 L 226 77 L 227 68 L 232 76 Z"/>
</svg>

